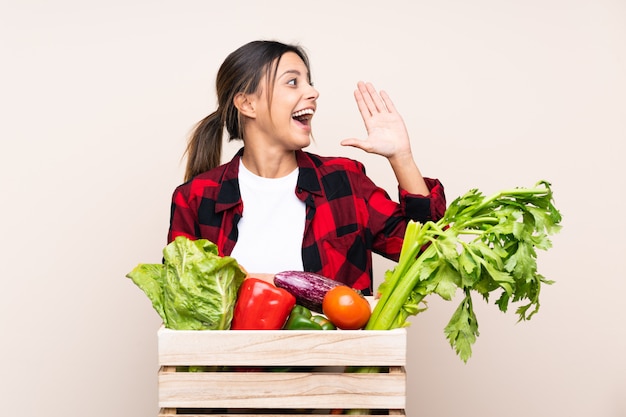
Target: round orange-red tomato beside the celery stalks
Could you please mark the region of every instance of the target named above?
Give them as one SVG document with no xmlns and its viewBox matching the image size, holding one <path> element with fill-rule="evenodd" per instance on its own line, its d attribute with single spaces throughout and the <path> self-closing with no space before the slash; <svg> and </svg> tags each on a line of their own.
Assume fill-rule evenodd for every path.
<svg viewBox="0 0 626 417">
<path fill-rule="evenodd" d="M 370 303 L 347 285 L 330 289 L 324 295 L 322 310 L 328 320 L 342 330 L 361 329 L 372 315 Z"/>
</svg>

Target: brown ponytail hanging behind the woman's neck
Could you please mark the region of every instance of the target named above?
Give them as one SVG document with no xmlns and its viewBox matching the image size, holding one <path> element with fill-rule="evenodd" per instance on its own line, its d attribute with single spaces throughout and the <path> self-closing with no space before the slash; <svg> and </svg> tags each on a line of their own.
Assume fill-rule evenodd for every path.
<svg viewBox="0 0 626 417">
<path fill-rule="evenodd" d="M 185 181 L 220 165 L 224 123 L 219 110 L 209 114 L 196 125 L 187 144 Z"/>
</svg>

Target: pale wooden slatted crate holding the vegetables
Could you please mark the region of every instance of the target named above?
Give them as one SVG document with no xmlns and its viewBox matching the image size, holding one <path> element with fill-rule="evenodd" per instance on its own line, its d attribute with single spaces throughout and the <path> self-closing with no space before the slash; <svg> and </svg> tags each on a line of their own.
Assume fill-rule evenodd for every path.
<svg viewBox="0 0 626 417">
<path fill-rule="evenodd" d="M 160 416 L 330 416 L 333 409 L 404 416 L 406 341 L 406 329 L 161 328 Z M 371 366 L 380 372 L 348 368 Z"/>
</svg>

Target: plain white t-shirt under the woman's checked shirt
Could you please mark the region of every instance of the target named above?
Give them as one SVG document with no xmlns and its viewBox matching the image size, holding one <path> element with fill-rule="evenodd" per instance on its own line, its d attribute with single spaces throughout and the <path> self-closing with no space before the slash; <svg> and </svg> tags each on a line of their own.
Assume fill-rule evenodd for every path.
<svg viewBox="0 0 626 417">
<path fill-rule="evenodd" d="M 259 177 L 239 162 L 243 216 L 231 256 L 248 272 L 302 271 L 306 207 L 296 197 L 298 169 L 281 178 Z"/>
</svg>

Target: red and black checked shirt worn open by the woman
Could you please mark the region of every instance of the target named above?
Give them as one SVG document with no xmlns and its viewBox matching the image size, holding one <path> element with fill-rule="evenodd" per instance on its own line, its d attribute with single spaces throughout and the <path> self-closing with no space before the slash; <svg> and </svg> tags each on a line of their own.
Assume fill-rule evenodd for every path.
<svg viewBox="0 0 626 417">
<path fill-rule="evenodd" d="M 220 255 L 237 242 L 243 204 L 239 159 L 180 185 L 172 197 L 168 242 L 177 236 L 208 239 Z M 446 209 L 443 186 L 426 178 L 428 197 L 400 189 L 400 203 L 377 187 L 360 162 L 296 152 L 295 193 L 306 204 L 302 261 L 306 271 L 336 279 L 371 294 L 372 252 L 397 261 L 409 219 L 438 220 Z"/>
</svg>

